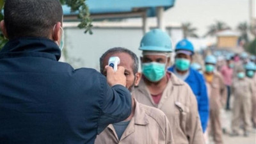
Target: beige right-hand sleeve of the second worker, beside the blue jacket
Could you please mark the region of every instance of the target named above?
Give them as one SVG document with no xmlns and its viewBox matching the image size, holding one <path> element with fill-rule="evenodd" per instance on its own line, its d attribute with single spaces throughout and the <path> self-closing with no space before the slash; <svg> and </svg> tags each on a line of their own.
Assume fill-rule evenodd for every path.
<svg viewBox="0 0 256 144">
<path fill-rule="evenodd" d="M 189 113 L 186 124 L 186 134 L 189 140 L 189 144 L 204 144 L 204 135 L 201 127 L 200 118 L 198 115 L 197 102 L 195 95 L 190 90 L 188 91 L 189 97 Z"/>
</svg>

